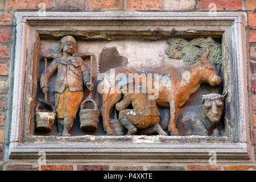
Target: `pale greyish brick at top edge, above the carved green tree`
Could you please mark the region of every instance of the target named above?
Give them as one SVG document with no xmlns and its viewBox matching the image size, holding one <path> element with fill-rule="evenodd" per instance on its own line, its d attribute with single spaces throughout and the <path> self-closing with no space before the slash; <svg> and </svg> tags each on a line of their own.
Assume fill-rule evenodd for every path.
<svg viewBox="0 0 256 182">
<path fill-rule="evenodd" d="M 165 0 L 165 10 L 193 10 L 196 7 L 196 0 Z"/>
</svg>

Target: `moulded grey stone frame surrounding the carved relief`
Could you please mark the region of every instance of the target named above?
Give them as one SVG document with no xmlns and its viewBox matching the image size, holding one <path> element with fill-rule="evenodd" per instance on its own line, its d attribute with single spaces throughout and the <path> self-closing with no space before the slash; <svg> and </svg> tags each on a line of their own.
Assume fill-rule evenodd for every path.
<svg viewBox="0 0 256 182">
<path fill-rule="evenodd" d="M 253 162 L 253 146 L 250 142 L 250 107 L 247 90 L 246 13 L 217 12 L 16 12 L 11 55 L 14 72 L 11 75 L 9 121 L 7 121 L 5 160 L 37 160 L 44 151 L 47 160 L 69 162 L 203 162 L 208 163 L 209 152 L 217 153 L 217 163 Z M 72 26 L 76 28 L 71 28 Z M 117 26 L 118 25 L 118 26 Z M 58 27 L 57 27 L 58 26 Z M 88 31 L 122 32 L 131 34 L 144 31 L 158 34 L 163 28 L 167 35 L 221 36 L 223 49 L 224 88 L 230 93 L 226 98 L 225 117 L 229 125 L 226 137 L 177 137 L 177 136 L 32 136 L 29 119 L 35 92 L 36 60 L 39 59 L 40 36 L 77 34 Z M 127 31 L 128 28 L 129 31 Z M 129 29 L 130 28 L 130 29 Z M 61 33 L 62 32 L 62 33 Z M 162 36 L 162 35 L 161 35 Z M 153 36 L 154 37 L 154 36 Z M 241 61 L 242 60 L 242 61 Z M 229 80 L 229 81 L 227 81 Z M 229 107 L 229 108 L 228 108 Z"/>
</svg>

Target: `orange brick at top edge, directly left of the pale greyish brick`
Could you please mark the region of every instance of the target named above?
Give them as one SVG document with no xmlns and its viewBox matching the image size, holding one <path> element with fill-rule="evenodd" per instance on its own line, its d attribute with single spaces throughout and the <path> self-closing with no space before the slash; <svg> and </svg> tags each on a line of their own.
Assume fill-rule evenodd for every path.
<svg viewBox="0 0 256 182">
<path fill-rule="evenodd" d="M 126 0 L 128 10 L 160 10 L 163 7 L 163 0 Z"/>
</svg>

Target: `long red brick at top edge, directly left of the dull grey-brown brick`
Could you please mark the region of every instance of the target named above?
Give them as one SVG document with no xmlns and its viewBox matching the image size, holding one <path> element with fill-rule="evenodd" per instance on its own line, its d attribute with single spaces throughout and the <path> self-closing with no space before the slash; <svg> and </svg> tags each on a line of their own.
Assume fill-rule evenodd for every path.
<svg viewBox="0 0 256 182">
<path fill-rule="evenodd" d="M 47 9 L 54 6 L 52 0 L 8 0 L 7 9 L 39 9 L 38 5 L 44 3 Z"/>
</svg>

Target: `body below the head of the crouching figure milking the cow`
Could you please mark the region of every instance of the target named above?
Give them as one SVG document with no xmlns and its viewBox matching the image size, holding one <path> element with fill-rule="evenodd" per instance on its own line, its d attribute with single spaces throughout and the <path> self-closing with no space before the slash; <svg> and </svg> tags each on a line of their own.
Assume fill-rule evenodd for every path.
<svg viewBox="0 0 256 182">
<path fill-rule="evenodd" d="M 126 109 L 130 104 L 133 109 Z M 127 93 L 123 100 L 115 105 L 119 110 L 119 121 L 128 130 L 127 135 L 134 135 L 137 129 L 140 134 L 150 135 L 158 133 L 167 135 L 159 125 L 160 113 L 155 100 L 148 100 L 147 94 Z"/>
</svg>

